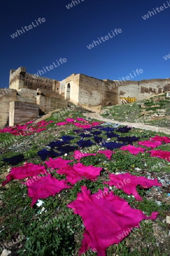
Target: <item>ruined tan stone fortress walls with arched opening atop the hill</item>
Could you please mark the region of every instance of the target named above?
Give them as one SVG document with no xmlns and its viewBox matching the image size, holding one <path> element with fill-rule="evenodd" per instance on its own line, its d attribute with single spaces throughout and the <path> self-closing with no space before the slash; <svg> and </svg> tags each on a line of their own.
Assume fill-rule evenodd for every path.
<svg viewBox="0 0 170 256">
<path fill-rule="evenodd" d="M 169 90 L 169 79 L 118 82 L 74 73 L 58 81 L 29 74 L 24 67 L 11 69 L 9 88 L 0 89 L 0 128 L 67 108 L 68 101 L 95 108 L 121 104 L 121 97 L 142 100 Z"/>
</svg>

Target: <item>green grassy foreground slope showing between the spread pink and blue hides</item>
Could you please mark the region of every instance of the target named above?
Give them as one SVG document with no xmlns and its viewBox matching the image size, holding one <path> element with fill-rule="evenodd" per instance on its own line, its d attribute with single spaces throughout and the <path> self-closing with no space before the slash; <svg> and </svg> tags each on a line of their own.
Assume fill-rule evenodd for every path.
<svg viewBox="0 0 170 256">
<path fill-rule="evenodd" d="M 166 101 L 165 104 L 168 105 L 169 101 Z M 117 113 L 121 113 L 121 118 L 125 121 L 124 111 L 128 114 L 126 115 L 128 117 L 126 118 L 127 121 L 130 119 L 134 121 L 132 117 L 140 118 L 139 113 L 141 109 L 135 104 L 133 106 L 109 107 L 108 109 L 110 110 L 109 113 L 113 115 L 113 118 L 116 118 Z M 108 110 L 106 109 L 106 111 Z M 56 123 L 64 121 L 66 117 L 83 117 L 82 113 L 75 112 L 75 110 L 71 110 L 69 114 L 68 112 L 63 112 L 62 118 L 58 118 L 57 116 L 59 115 L 56 114 L 54 112 L 46 121 L 53 120 Z M 37 155 L 37 152 L 42 148 L 49 149 L 46 145 L 50 142 L 56 141 L 62 135 L 74 135 L 76 138 L 71 141 L 71 145 L 76 146 L 76 142 L 80 140 L 80 137 L 73 131 L 76 129 L 75 126 L 71 124 L 69 126 L 55 126 L 54 123 L 50 123 L 45 131 L 29 136 L 14 136 L 9 133 L 0 134 L 1 143 L 5 142 L 0 147 L 0 183 L 5 180 L 6 175 L 11 169 L 10 164 L 3 162 L 3 158 L 24 154 L 24 161 L 16 166 L 22 166 L 25 161 L 45 165 Z M 157 135 L 152 131 L 140 129 L 131 129 L 128 134 L 122 134 L 120 132 L 117 132 L 117 134 L 120 134 L 121 137 L 136 136 L 140 141 L 148 140 L 150 137 Z M 158 135 L 165 136 L 166 134 Z M 107 139 L 104 133 L 100 137 Z M 94 142 L 93 139 L 91 141 Z M 116 138 L 111 138 L 110 141 L 116 141 Z M 133 142 L 133 145 L 137 146 L 138 144 L 137 142 Z M 100 144 L 79 148 L 82 152 L 90 153 L 96 153 L 99 149 L 104 150 L 106 148 Z M 163 143 L 156 149 L 170 151 L 170 143 Z M 73 188 L 63 189 L 54 197 L 49 196 L 46 199 L 42 199 L 44 204 L 41 207 L 35 204 L 31 208 L 31 198 L 27 195 L 27 187 L 21 184 L 24 180 L 12 180 L 3 187 L 0 185 L 1 249 L 12 251 L 10 254 L 12 256 L 77 256 L 83 238 L 84 225 L 82 218 L 78 214 L 73 214 L 73 210 L 67 208 L 67 204 L 76 199 L 81 185 L 86 185 L 92 194 L 96 193 L 98 189 L 103 189 L 104 186 L 109 187 L 103 184 L 103 181 L 108 181 L 109 171 L 111 173 L 130 172 L 130 174 L 145 176 L 151 179 L 159 177 L 162 179 L 163 187 L 152 187 L 150 189 L 137 188 L 139 195 L 143 198 L 143 201 L 137 201 L 133 196 L 128 196 L 121 189 L 112 186 L 114 194 L 128 201 L 131 207 L 141 209 L 147 216 L 150 216 L 151 212 L 154 211 L 159 212 L 159 215 L 156 220 L 142 221 L 140 224 L 141 229 L 134 229 L 118 245 L 110 246 L 107 249 L 107 255 L 168 256 L 170 251 L 168 238 L 169 224 L 166 223 L 165 218 L 169 215 L 170 209 L 168 196 L 170 184 L 169 162 L 165 159 L 152 158 L 148 152 L 133 155 L 128 151 L 125 154 L 119 148 L 114 151 L 116 153 L 112 155 L 111 160 L 103 154 L 82 158 L 80 162 L 85 166 L 93 165 L 103 168 L 98 179 L 95 182 L 86 179 L 80 180 Z M 76 162 L 73 158 L 73 152 L 62 157 L 63 159 L 74 160 L 70 165 Z M 65 179 L 65 175 L 59 175 L 56 172 L 53 172 L 52 175 L 59 180 Z M 89 250 L 86 255 L 96 255 L 96 253 Z"/>
</svg>

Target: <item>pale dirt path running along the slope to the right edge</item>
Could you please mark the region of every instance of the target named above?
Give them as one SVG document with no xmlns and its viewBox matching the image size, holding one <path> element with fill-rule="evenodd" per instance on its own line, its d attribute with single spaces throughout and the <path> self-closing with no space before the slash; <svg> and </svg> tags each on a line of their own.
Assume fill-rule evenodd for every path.
<svg viewBox="0 0 170 256">
<path fill-rule="evenodd" d="M 130 123 L 130 122 L 114 121 L 112 119 L 103 118 L 103 117 L 101 117 L 101 115 L 99 115 L 97 113 L 84 113 L 84 115 L 86 115 L 86 117 L 95 118 L 97 120 L 104 121 L 104 122 L 120 123 L 120 125 L 129 125 L 129 126 L 133 126 L 135 128 L 139 128 L 139 129 L 151 130 L 151 131 L 157 131 L 159 133 L 170 134 L 170 129 L 167 129 L 164 127 L 145 125 L 143 123 Z"/>
</svg>

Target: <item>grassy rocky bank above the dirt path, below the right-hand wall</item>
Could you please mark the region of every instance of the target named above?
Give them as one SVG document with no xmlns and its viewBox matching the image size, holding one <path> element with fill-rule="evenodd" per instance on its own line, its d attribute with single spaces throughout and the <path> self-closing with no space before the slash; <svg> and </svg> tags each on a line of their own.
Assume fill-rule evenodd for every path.
<svg viewBox="0 0 170 256">
<path fill-rule="evenodd" d="M 158 96 L 131 104 L 107 106 L 101 115 L 120 122 L 142 122 L 146 125 L 170 127 L 170 98 L 154 101 L 155 98 Z M 144 111 L 149 113 L 145 114 Z"/>
</svg>

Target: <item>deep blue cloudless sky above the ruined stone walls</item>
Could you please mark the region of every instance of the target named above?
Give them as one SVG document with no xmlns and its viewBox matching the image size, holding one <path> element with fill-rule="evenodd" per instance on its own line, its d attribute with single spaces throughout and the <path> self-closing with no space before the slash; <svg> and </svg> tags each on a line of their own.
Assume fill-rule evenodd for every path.
<svg viewBox="0 0 170 256">
<path fill-rule="evenodd" d="M 169 0 L 168 0 L 169 1 Z M 66 62 L 46 71 L 45 77 L 63 80 L 72 73 L 99 79 L 120 80 L 136 69 L 143 69 L 132 80 L 167 78 L 170 59 L 170 7 L 165 0 L 114 1 L 3 1 L 1 3 L 1 82 L 8 87 L 10 69 L 26 67 L 37 73 L 42 67 Z M 142 16 L 156 7 L 167 6 L 144 20 Z M 170 3 L 169 3 L 170 5 Z M 35 20 L 39 26 L 28 29 Z M 12 39 L 11 35 L 27 26 L 28 31 Z M 87 46 L 114 29 L 122 32 L 94 48 Z"/>
</svg>

